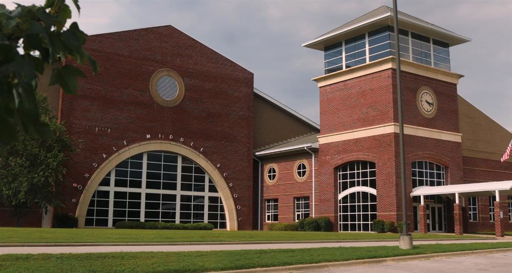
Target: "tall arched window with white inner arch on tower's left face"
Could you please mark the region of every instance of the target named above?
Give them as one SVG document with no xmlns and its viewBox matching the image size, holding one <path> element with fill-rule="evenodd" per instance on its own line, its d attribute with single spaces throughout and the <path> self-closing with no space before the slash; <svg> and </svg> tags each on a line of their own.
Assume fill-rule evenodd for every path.
<svg viewBox="0 0 512 273">
<path fill-rule="evenodd" d="M 377 218 L 376 185 L 373 162 L 351 162 L 338 168 L 339 231 L 372 231 Z"/>
</svg>

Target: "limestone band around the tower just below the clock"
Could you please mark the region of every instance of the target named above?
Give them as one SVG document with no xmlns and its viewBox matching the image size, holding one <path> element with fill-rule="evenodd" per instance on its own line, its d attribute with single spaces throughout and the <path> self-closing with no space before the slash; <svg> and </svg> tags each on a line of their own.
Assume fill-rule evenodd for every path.
<svg viewBox="0 0 512 273">
<path fill-rule="evenodd" d="M 398 123 L 388 123 L 372 127 L 366 127 L 356 130 L 324 134 L 318 136 L 318 142 L 320 144 L 359 139 L 365 137 L 372 137 L 373 135 L 386 134 L 386 133 L 398 133 Z M 416 135 L 418 137 L 425 137 L 438 140 L 446 140 L 453 142 L 462 142 L 462 134 L 447 132 L 423 127 L 417 127 L 412 125 L 404 125 L 404 134 Z"/>
</svg>

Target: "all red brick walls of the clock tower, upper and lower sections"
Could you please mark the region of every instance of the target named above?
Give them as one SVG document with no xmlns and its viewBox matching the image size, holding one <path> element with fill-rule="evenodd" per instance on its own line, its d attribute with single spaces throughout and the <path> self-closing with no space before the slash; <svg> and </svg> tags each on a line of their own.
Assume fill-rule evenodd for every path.
<svg viewBox="0 0 512 273">
<path fill-rule="evenodd" d="M 320 135 L 398 123 L 395 70 L 385 70 L 320 87 Z M 434 90 L 436 116 L 427 119 L 417 108 L 421 86 Z M 457 85 L 411 73 L 402 73 L 404 123 L 459 132 Z M 405 135 L 407 194 L 412 191 L 411 162 L 433 161 L 446 167 L 446 183 L 462 183 L 461 143 Z M 401 183 L 398 134 L 383 134 L 320 145 L 317 214 L 337 223 L 337 167 L 356 160 L 373 161 L 377 168 L 377 213 L 384 220 L 401 221 Z M 412 198 L 407 218 L 413 222 Z"/>
</svg>

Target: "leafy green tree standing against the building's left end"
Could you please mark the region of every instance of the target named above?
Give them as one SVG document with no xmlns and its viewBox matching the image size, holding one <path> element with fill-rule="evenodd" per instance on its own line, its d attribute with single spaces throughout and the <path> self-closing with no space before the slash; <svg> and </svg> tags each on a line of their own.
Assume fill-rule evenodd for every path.
<svg viewBox="0 0 512 273">
<path fill-rule="evenodd" d="M 60 203 L 59 191 L 66 172 L 63 164 L 76 150 L 44 95 L 36 94 L 36 106 L 55 137 L 42 140 L 19 131 L 17 141 L 7 146 L 0 160 L 0 201 L 13 208 L 16 226 L 21 226 L 26 209 Z"/>
</svg>

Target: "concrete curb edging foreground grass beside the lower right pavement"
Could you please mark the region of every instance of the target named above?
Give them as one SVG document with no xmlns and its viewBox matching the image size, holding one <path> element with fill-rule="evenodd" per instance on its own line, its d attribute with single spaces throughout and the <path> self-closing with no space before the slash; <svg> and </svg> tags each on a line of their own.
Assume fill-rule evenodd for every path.
<svg viewBox="0 0 512 273">
<path fill-rule="evenodd" d="M 381 264 L 381 263 L 393 263 L 393 262 L 412 262 L 421 261 L 428 259 L 440 259 L 440 258 L 455 258 L 463 257 L 468 255 L 478 254 L 495 254 L 512 252 L 512 248 L 495 248 L 485 249 L 478 251 L 463 251 L 463 252 L 448 252 L 448 253 L 436 253 L 436 254 L 423 254 L 413 256 L 400 256 L 392 258 L 379 258 L 379 259 L 366 259 L 346 262 L 334 262 L 334 263 L 318 263 L 318 264 L 301 264 L 301 265 L 290 265 L 290 266 L 278 266 L 278 267 L 267 267 L 267 268 L 254 268 L 254 269 L 242 269 L 242 270 L 231 270 L 231 271 L 218 271 L 216 273 L 250 273 L 250 272 L 294 272 L 294 271 L 314 271 L 322 269 L 340 269 L 342 267 L 350 266 L 362 266 L 370 264 Z"/>
</svg>

